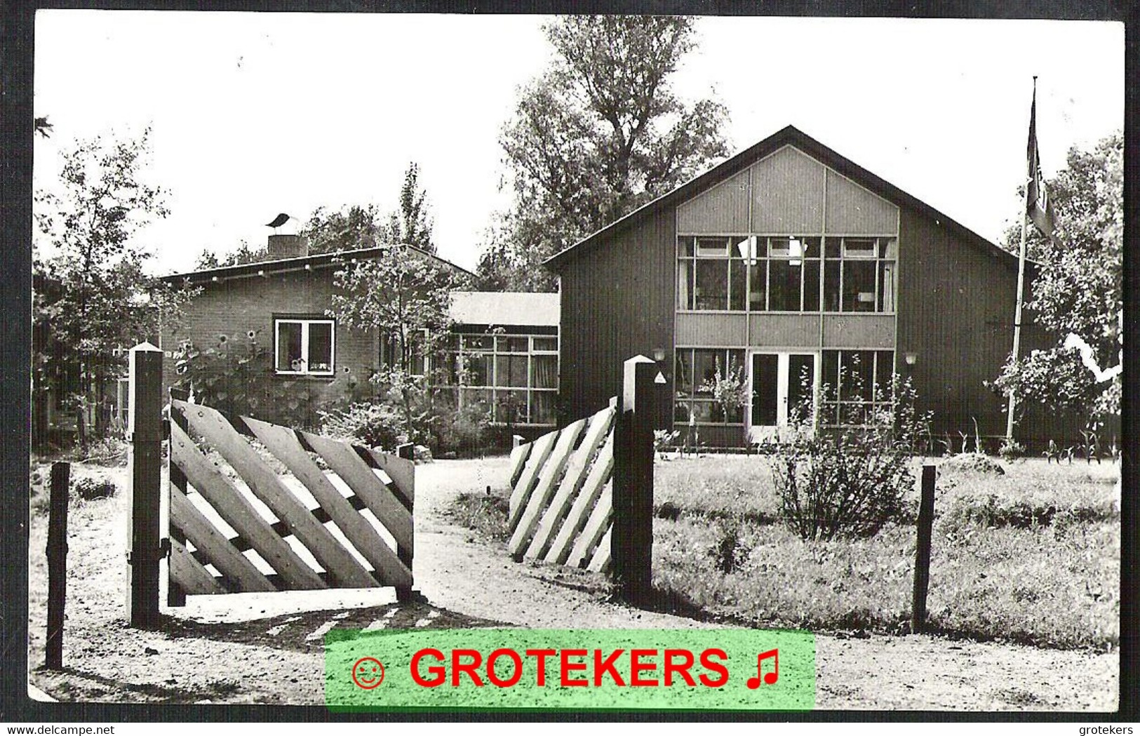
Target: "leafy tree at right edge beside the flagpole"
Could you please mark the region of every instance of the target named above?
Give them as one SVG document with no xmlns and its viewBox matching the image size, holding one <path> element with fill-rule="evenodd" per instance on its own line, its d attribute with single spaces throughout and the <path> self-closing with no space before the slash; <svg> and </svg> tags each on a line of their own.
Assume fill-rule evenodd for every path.
<svg viewBox="0 0 1140 736">
<path fill-rule="evenodd" d="M 1033 319 L 1054 335 L 1053 347 L 1007 363 L 995 386 L 1011 387 L 1020 401 L 1090 417 L 1119 414 L 1121 379 L 1097 382 L 1068 337 L 1092 349 L 1100 368 L 1119 362 L 1123 336 L 1124 141 L 1115 133 L 1091 150 L 1076 147 L 1066 167 L 1048 182 L 1056 213 L 1049 243 L 1032 224 L 1026 247 L 1041 264 L 1026 302 Z M 1024 188 L 1021 190 L 1024 194 Z M 1023 215 L 1024 216 L 1024 215 Z M 1010 228 L 1004 247 L 1017 252 L 1020 224 Z"/>
</svg>

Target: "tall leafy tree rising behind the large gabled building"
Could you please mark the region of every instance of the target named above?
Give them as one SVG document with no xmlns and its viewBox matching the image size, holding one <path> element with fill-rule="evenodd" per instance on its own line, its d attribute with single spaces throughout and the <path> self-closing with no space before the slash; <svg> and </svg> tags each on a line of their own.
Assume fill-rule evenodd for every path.
<svg viewBox="0 0 1140 736">
<path fill-rule="evenodd" d="M 728 154 L 726 108 L 670 87 L 691 18 L 570 16 L 544 30 L 555 58 L 500 137 L 515 202 L 479 265 L 512 288 L 553 288 L 545 259 Z"/>
</svg>

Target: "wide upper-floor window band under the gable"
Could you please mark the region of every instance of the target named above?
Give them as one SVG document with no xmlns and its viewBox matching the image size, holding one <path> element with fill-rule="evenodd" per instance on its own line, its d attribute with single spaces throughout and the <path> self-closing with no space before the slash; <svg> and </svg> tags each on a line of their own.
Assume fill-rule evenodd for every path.
<svg viewBox="0 0 1140 736">
<path fill-rule="evenodd" d="M 682 236 L 677 309 L 894 312 L 890 237 Z"/>
</svg>

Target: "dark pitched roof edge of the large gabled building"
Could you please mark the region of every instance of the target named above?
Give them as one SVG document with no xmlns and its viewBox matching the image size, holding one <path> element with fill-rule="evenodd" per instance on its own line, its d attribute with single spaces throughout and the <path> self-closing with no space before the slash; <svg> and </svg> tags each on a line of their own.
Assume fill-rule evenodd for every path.
<svg viewBox="0 0 1140 736">
<path fill-rule="evenodd" d="M 944 213 L 935 210 L 913 195 L 906 194 L 886 179 L 877 177 L 849 158 L 839 155 L 793 125 L 788 125 L 782 130 L 776 131 L 758 144 L 755 144 L 735 156 L 732 156 L 716 166 L 712 166 L 705 173 L 690 179 L 674 190 L 661 195 L 657 199 L 649 202 L 637 210 L 634 210 L 624 218 L 614 220 L 601 230 L 583 238 L 570 247 L 555 253 L 544 262 L 544 265 L 557 271 L 568 261 L 588 253 L 593 247 L 602 243 L 606 236 L 632 227 L 666 207 L 676 206 L 682 202 L 692 198 L 697 194 L 712 187 L 717 182 L 723 181 L 738 172 L 743 171 L 757 161 L 765 158 L 788 145 L 795 146 L 805 154 L 834 169 L 842 175 L 858 182 L 885 199 L 888 199 L 896 205 L 915 210 L 927 218 L 935 220 L 939 224 L 944 224 L 947 229 L 955 232 L 970 245 L 1007 262 L 1008 264 L 1011 264 L 1013 268 L 1017 268 L 1017 256 L 1012 253 L 997 247 L 991 240 L 982 237 L 974 230 L 970 230 L 964 224 L 946 216 Z"/>
</svg>

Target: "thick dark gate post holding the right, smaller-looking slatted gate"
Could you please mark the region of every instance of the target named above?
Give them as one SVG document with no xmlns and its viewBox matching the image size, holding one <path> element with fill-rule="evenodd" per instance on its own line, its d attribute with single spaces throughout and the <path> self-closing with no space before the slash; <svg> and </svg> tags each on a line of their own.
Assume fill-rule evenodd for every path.
<svg viewBox="0 0 1140 736">
<path fill-rule="evenodd" d="M 610 559 L 622 598 L 645 602 L 653 588 L 653 411 L 657 363 L 624 366 L 613 434 L 613 532 Z"/>
</svg>

